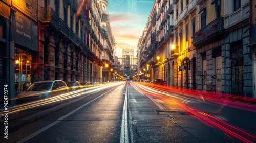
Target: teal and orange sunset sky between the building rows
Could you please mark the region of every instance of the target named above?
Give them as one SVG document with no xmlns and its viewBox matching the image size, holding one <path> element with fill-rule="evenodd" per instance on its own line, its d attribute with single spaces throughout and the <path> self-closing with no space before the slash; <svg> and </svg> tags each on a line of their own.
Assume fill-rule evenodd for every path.
<svg viewBox="0 0 256 143">
<path fill-rule="evenodd" d="M 122 49 L 134 49 L 137 45 L 154 0 L 108 0 L 110 26 L 116 41 L 116 56 L 122 55 Z"/>
</svg>

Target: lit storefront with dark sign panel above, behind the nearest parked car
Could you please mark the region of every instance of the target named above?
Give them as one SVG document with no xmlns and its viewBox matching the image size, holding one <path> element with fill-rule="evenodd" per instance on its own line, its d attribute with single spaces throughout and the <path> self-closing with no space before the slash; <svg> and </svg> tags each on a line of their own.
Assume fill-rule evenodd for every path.
<svg viewBox="0 0 256 143">
<path fill-rule="evenodd" d="M 25 15 L 11 11 L 10 53 L 14 53 L 11 77 L 15 94 L 24 91 L 38 77 L 38 27 Z M 14 75 L 12 75 L 14 74 Z"/>
</svg>

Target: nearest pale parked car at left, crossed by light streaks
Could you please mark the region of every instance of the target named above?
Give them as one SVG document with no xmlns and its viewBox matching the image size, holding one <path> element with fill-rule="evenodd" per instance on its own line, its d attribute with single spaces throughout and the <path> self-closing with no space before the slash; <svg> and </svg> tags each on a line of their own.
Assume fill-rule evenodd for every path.
<svg viewBox="0 0 256 143">
<path fill-rule="evenodd" d="M 31 84 L 25 91 L 17 96 L 17 103 L 30 100 L 39 100 L 57 96 L 58 94 L 69 92 L 67 84 L 62 80 L 38 81 Z M 60 90 L 57 90 L 60 89 Z"/>
</svg>

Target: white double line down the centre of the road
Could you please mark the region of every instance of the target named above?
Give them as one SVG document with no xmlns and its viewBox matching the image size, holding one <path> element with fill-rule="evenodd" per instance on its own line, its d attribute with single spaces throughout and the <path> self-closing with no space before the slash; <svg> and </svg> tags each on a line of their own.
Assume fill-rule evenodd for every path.
<svg viewBox="0 0 256 143">
<path fill-rule="evenodd" d="M 128 84 L 126 83 L 126 94 L 125 94 L 124 103 L 123 103 L 123 116 L 122 116 L 120 142 L 129 142 L 127 102 L 128 102 Z"/>
</svg>

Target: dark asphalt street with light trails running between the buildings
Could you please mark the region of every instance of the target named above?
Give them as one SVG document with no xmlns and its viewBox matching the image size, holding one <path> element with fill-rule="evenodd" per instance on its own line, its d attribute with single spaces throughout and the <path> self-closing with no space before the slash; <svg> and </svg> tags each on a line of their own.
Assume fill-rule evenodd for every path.
<svg viewBox="0 0 256 143">
<path fill-rule="evenodd" d="M 3 142 L 256 142 L 255 104 L 144 82 L 80 89 L 8 111 L 1 110 Z"/>
</svg>

